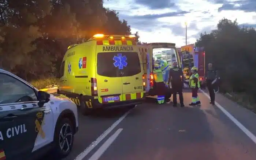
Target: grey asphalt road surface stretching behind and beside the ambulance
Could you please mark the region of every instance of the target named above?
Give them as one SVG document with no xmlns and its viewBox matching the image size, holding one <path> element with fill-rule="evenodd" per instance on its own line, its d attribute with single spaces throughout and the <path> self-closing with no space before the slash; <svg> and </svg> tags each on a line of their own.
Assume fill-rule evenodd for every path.
<svg viewBox="0 0 256 160">
<path fill-rule="evenodd" d="M 216 106 L 199 93 L 201 105 L 190 107 L 185 92 L 185 108 L 145 102 L 79 115 L 73 151 L 62 160 L 256 160 L 256 115 L 220 96 Z"/>
</svg>

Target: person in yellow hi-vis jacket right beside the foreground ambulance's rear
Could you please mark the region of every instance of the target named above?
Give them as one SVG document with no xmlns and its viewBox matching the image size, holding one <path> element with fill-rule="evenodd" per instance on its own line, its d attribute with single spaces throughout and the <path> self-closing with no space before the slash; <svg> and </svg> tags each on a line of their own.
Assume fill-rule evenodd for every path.
<svg viewBox="0 0 256 160">
<path fill-rule="evenodd" d="M 153 71 L 153 76 L 156 82 L 155 85 L 156 85 L 157 102 L 158 104 L 163 104 L 166 88 L 163 82 L 163 73 L 162 73 L 162 70 L 160 70 L 160 67 L 158 64 L 155 64 L 155 70 Z"/>
</svg>

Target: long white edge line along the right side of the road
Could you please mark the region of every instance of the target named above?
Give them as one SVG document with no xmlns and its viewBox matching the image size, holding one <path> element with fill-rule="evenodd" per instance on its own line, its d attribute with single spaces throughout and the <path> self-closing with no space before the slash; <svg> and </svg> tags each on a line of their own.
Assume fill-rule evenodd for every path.
<svg viewBox="0 0 256 160">
<path fill-rule="evenodd" d="M 210 96 L 205 93 L 205 91 L 201 90 L 200 91 L 209 99 Z M 215 105 L 224 113 L 226 114 L 227 117 L 229 117 L 229 119 L 231 121 L 234 122 L 235 125 L 238 126 L 238 128 L 240 128 L 255 144 L 256 144 L 256 136 L 254 134 L 252 134 L 252 132 L 250 132 L 247 128 L 245 128 L 244 125 L 242 125 L 237 119 L 235 119 L 235 117 L 233 117 L 229 112 L 227 112 L 226 109 L 224 109 L 220 104 L 218 104 L 216 101 L 215 101 Z"/>
</svg>

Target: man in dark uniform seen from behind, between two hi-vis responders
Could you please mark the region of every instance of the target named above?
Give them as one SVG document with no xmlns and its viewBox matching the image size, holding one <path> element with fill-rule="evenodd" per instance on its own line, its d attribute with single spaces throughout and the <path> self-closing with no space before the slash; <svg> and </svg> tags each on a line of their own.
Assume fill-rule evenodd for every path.
<svg viewBox="0 0 256 160">
<path fill-rule="evenodd" d="M 183 103 L 183 83 L 184 83 L 184 74 L 181 68 L 178 68 L 177 62 L 172 63 L 172 68 L 169 72 L 169 79 L 168 84 L 171 82 L 171 88 L 172 88 L 172 96 L 173 96 L 173 106 L 177 106 L 177 93 L 179 93 L 179 102 L 181 104 L 181 107 L 184 107 Z"/>
</svg>

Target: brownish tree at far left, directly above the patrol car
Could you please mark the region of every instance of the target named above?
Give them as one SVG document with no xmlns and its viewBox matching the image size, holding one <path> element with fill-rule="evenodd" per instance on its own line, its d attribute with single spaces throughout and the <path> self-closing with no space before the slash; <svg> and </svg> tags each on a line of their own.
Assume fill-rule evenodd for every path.
<svg viewBox="0 0 256 160">
<path fill-rule="evenodd" d="M 11 70 L 26 79 L 25 73 L 31 67 L 31 53 L 36 50 L 34 40 L 41 37 L 38 19 L 48 14 L 48 0 L 1 1 L 1 67 Z"/>
</svg>

